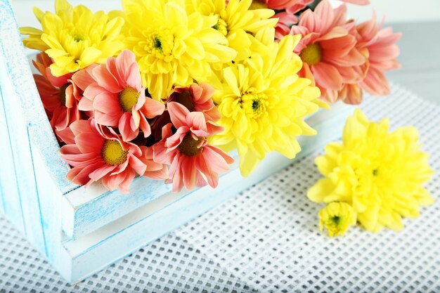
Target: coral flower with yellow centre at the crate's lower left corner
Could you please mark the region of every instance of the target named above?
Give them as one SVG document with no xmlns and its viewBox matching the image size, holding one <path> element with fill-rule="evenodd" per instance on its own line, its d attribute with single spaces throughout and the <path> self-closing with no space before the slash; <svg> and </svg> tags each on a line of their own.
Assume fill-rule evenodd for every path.
<svg viewBox="0 0 440 293">
<path fill-rule="evenodd" d="M 67 173 L 73 183 L 87 187 L 102 180 L 109 190 L 129 193 L 136 174 L 148 175 L 141 148 L 125 143 L 112 129 L 99 126 L 93 118 L 74 122 L 70 129 L 75 143 L 63 145 L 60 152 L 73 167 Z"/>
</svg>

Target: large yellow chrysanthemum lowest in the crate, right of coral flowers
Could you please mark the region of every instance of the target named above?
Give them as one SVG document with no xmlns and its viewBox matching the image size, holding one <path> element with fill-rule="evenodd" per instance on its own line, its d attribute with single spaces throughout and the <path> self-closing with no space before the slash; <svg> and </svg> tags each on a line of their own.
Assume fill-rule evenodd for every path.
<svg viewBox="0 0 440 293">
<path fill-rule="evenodd" d="M 275 30 L 266 29 L 256 37 L 266 44 L 266 55 L 252 55 L 221 71 L 222 88 L 214 94 L 225 127 L 212 143 L 226 151 L 238 149 L 240 170 L 248 176 L 264 159 L 277 151 L 293 158 L 301 150 L 296 137 L 316 131 L 304 117 L 318 110 L 318 88 L 296 74 L 302 61 L 292 53 L 299 36 L 273 41 Z"/>
</svg>

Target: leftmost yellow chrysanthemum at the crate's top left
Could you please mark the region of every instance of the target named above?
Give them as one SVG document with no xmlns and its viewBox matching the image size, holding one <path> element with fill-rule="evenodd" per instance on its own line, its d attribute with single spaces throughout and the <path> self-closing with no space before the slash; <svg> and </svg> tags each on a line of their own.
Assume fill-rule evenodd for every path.
<svg viewBox="0 0 440 293">
<path fill-rule="evenodd" d="M 72 8 L 67 1 L 56 0 L 55 13 L 34 7 L 34 14 L 42 30 L 22 27 L 21 34 L 29 34 L 23 44 L 53 58 L 51 72 L 56 77 L 105 63 L 124 47 L 119 36 L 124 19 L 110 19 L 103 11 L 93 14 L 85 6 Z"/>
</svg>

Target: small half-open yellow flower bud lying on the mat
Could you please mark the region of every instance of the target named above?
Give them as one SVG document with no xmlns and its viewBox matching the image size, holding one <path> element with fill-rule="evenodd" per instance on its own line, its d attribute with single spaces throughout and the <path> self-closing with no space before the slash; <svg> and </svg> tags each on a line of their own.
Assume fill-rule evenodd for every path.
<svg viewBox="0 0 440 293">
<path fill-rule="evenodd" d="M 328 235 L 344 235 L 351 225 L 356 225 L 356 212 L 347 202 L 330 202 L 318 213 L 319 230 L 324 227 Z"/>
</svg>

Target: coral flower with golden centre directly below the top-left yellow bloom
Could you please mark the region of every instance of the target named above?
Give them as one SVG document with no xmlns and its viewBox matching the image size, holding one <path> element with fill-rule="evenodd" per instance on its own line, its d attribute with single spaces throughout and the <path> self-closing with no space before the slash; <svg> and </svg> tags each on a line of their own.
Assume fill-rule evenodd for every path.
<svg viewBox="0 0 440 293">
<path fill-rule="evenodd" d="M 93 111 L 96 122 L 105 126 L 118 126 L 124 141 L 132 141 L 143 131 L 150 136 L 147 118 L 164 112 L 164 105 L 145 97 L 136 57 L 124 50 L 107 63 L 77 72 L 74 80 L 84 88 L 79 109 Z"/>
</svg>

